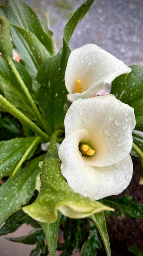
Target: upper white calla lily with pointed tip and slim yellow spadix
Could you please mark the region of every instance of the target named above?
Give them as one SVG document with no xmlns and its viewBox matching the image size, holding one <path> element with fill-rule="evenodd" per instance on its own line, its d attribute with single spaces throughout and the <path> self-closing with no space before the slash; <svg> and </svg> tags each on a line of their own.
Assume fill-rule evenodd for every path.
<svg viewBox="0 0 143 256">
<path fill-rule="evenodd" d="M 69 55 L 65 71 L 65 86 L 69 94 L 67 99 L 75 101 L 91 98 L 105 83 L 111 82 L 131 69 L 123 61 L 97 45 L 88 44 L 75 49 Z"/>
</svg>

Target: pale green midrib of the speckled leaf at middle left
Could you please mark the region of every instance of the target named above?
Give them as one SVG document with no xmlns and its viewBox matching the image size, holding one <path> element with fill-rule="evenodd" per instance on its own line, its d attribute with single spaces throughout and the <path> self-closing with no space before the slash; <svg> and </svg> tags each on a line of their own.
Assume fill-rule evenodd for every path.
<svg viewBox="0 0 143 256">
<path fill-rule="evenodd" d="M 26 157 L 29 155 L 29 153 L 31 152 L 31 150 L 34 148 L 34 146 L 41 140 L 41 137 L 36 137 L 36 139 L 32 142 L 32 144 L 29 146 L 29 148 L 26 150 L 26 152 L 24 153 L 24 155 L 22 156 L 22 158 L 20 159 L 20 162 L 17 164 L 17 166 L 15 167 L 13 173 L 11 174 L 10 177 L 14 176 L 15 173 L 17 173 L 17 171 L 19 170 L 19 168 L 22 166 L 22 164 L 24 163 L 24 161 L 26 160 Z"/>
</svg>

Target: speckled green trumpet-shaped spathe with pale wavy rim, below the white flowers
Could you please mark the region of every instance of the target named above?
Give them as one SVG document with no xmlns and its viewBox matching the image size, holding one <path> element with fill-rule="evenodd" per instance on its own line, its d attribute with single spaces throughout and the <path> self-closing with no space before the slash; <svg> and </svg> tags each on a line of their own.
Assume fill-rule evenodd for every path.
<svg viewBox="0 0 143 256">
<path fill-rule="evenodd" d="M 29 216 L 40 222 L 51 223 L 58 219 L 58 210 L 70 218 L 85 218 L 100 211 L 112 211 L 100 202 L 92 202 L 69 188 L 61 175 L 60 166 L 56 135 L 53 134 L 41 174 L 37 176 L 36 189 L 39 195 L 33 204 L 23 207 Z"/>
</svg>

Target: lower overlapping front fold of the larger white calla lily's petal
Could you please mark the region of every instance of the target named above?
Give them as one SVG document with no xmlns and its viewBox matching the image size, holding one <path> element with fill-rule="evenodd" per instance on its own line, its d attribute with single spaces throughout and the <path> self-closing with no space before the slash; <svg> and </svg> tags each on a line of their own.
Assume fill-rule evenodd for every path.
<svg viewBox="0 0 143 256">
<path fill-rule="evenodd" d="M 130 155 L 111 166 L 89 166 L 78 150 L 79 142 L 85 138 L 89 138 L 87 131 L 76 130 L 65 137 L 59 148 L 61 171 L 67 183 L 75 192 L 93 201 L 121 193 L 132 177 Z"/>
</svg>

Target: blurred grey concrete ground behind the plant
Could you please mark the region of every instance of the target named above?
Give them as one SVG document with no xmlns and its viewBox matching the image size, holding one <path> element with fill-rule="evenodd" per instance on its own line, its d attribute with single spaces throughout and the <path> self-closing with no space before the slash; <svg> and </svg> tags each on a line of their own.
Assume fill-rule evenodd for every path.
<svg viewBox="0 0 143 256">
<path fill-rule="evenodd" d="M 25 0 L 38 14 L 42 24 L 50 9 L 51 28 L 58 49 L 62 46 L 63 28 L 84 0 Z M 4 1 L 0 0 L 0 4 Z M 111 52 L 127 65 L 143 65 L 143 0 L 95 0 L 77 26 L 70 48 L 94 43 Z M 24 225 L 8 236 L 23 236 L 31 227 Z M 28 256 L 35 247 L 12 243 L 0 237 L 0 256 Z M 22 248 L 22 249 L 21 249 Z M 21 251 L 22 250 L 22 251 Z"/>
</svg>

